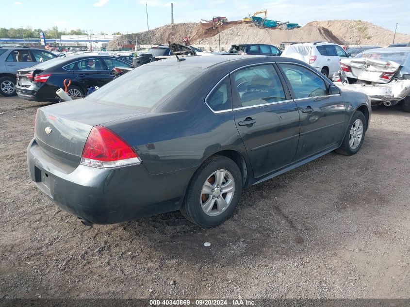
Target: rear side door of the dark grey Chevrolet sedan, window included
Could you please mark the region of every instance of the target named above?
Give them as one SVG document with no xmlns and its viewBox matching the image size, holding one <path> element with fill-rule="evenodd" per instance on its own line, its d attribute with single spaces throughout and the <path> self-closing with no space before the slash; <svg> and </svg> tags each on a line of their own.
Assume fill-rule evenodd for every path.
<svg viewBox="0 0 410 307">
<path fill-rule="evenodd" d="M 273 64 L 254 65 L 230 74 L 235 124 L 254 176 L 277 170 L 295 157 L 299 113 Z"/>
</svg>

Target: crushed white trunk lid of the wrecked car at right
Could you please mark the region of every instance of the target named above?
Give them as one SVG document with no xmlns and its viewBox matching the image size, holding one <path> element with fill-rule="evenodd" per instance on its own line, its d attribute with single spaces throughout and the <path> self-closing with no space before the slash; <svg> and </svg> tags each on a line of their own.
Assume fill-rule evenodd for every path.
<svg viewBox="0 0 410 307">
<path fill-rule="evenodd" d="M 401 65 L 393 61 L 369 58 L 342 59 L 341 63 L 350 67 L 358 80 L 376 83 L 388 83 L 392 80 Z"/>
</svg>

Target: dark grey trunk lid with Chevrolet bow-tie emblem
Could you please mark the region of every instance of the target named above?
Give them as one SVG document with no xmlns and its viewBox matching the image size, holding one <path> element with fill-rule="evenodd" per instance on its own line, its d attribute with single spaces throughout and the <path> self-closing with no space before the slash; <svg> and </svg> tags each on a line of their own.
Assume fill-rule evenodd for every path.
<svg viewBox="0 0 410 307">
<path fill-rule="evenodd" d="M 147 113 L 78 99 L 39 108 L 35 119 L 35 139 L 51 157 L 78 165 L 91 129 L 96 125 Z"/>
</svg>

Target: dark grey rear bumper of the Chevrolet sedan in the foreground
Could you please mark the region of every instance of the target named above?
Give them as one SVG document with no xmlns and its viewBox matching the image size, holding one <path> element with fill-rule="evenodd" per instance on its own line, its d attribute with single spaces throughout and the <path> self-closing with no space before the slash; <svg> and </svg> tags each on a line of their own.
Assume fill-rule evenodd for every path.
<svg viewBox="0 0 410 307">
<path fill-rule="evenodd" d="M 92 224 L 114 224 L 178 210 L 193 169 L 151 175 L 144 164 L 115 169 L 68 166 L 32 140 L 30 177 L 61 209 Z"/>
</svg>

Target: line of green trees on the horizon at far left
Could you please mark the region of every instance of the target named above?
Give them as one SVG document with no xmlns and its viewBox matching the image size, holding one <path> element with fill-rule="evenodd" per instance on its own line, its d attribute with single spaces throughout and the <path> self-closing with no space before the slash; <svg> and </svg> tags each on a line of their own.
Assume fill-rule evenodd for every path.
<svg viewBox="0 0 410 307">
<path fill-rule="evenodd" d="M 59 38 L 61 35 L 108 35 L 105 32 L 87 32 L 86 30 L 76 29 L 76 30 L 59 30 L 58 27 L 52 27 L 51 29 L 33 29 L 32 27 L 25 28 L 0 28 L 0 38 L 23 38 L 24 37 L 38 37 L 40 38 L 40 33 L 44 32 L 46 38 Z M 120 32 L 113 33 L 112 35 L 121 35 Z"/>
</svg>

